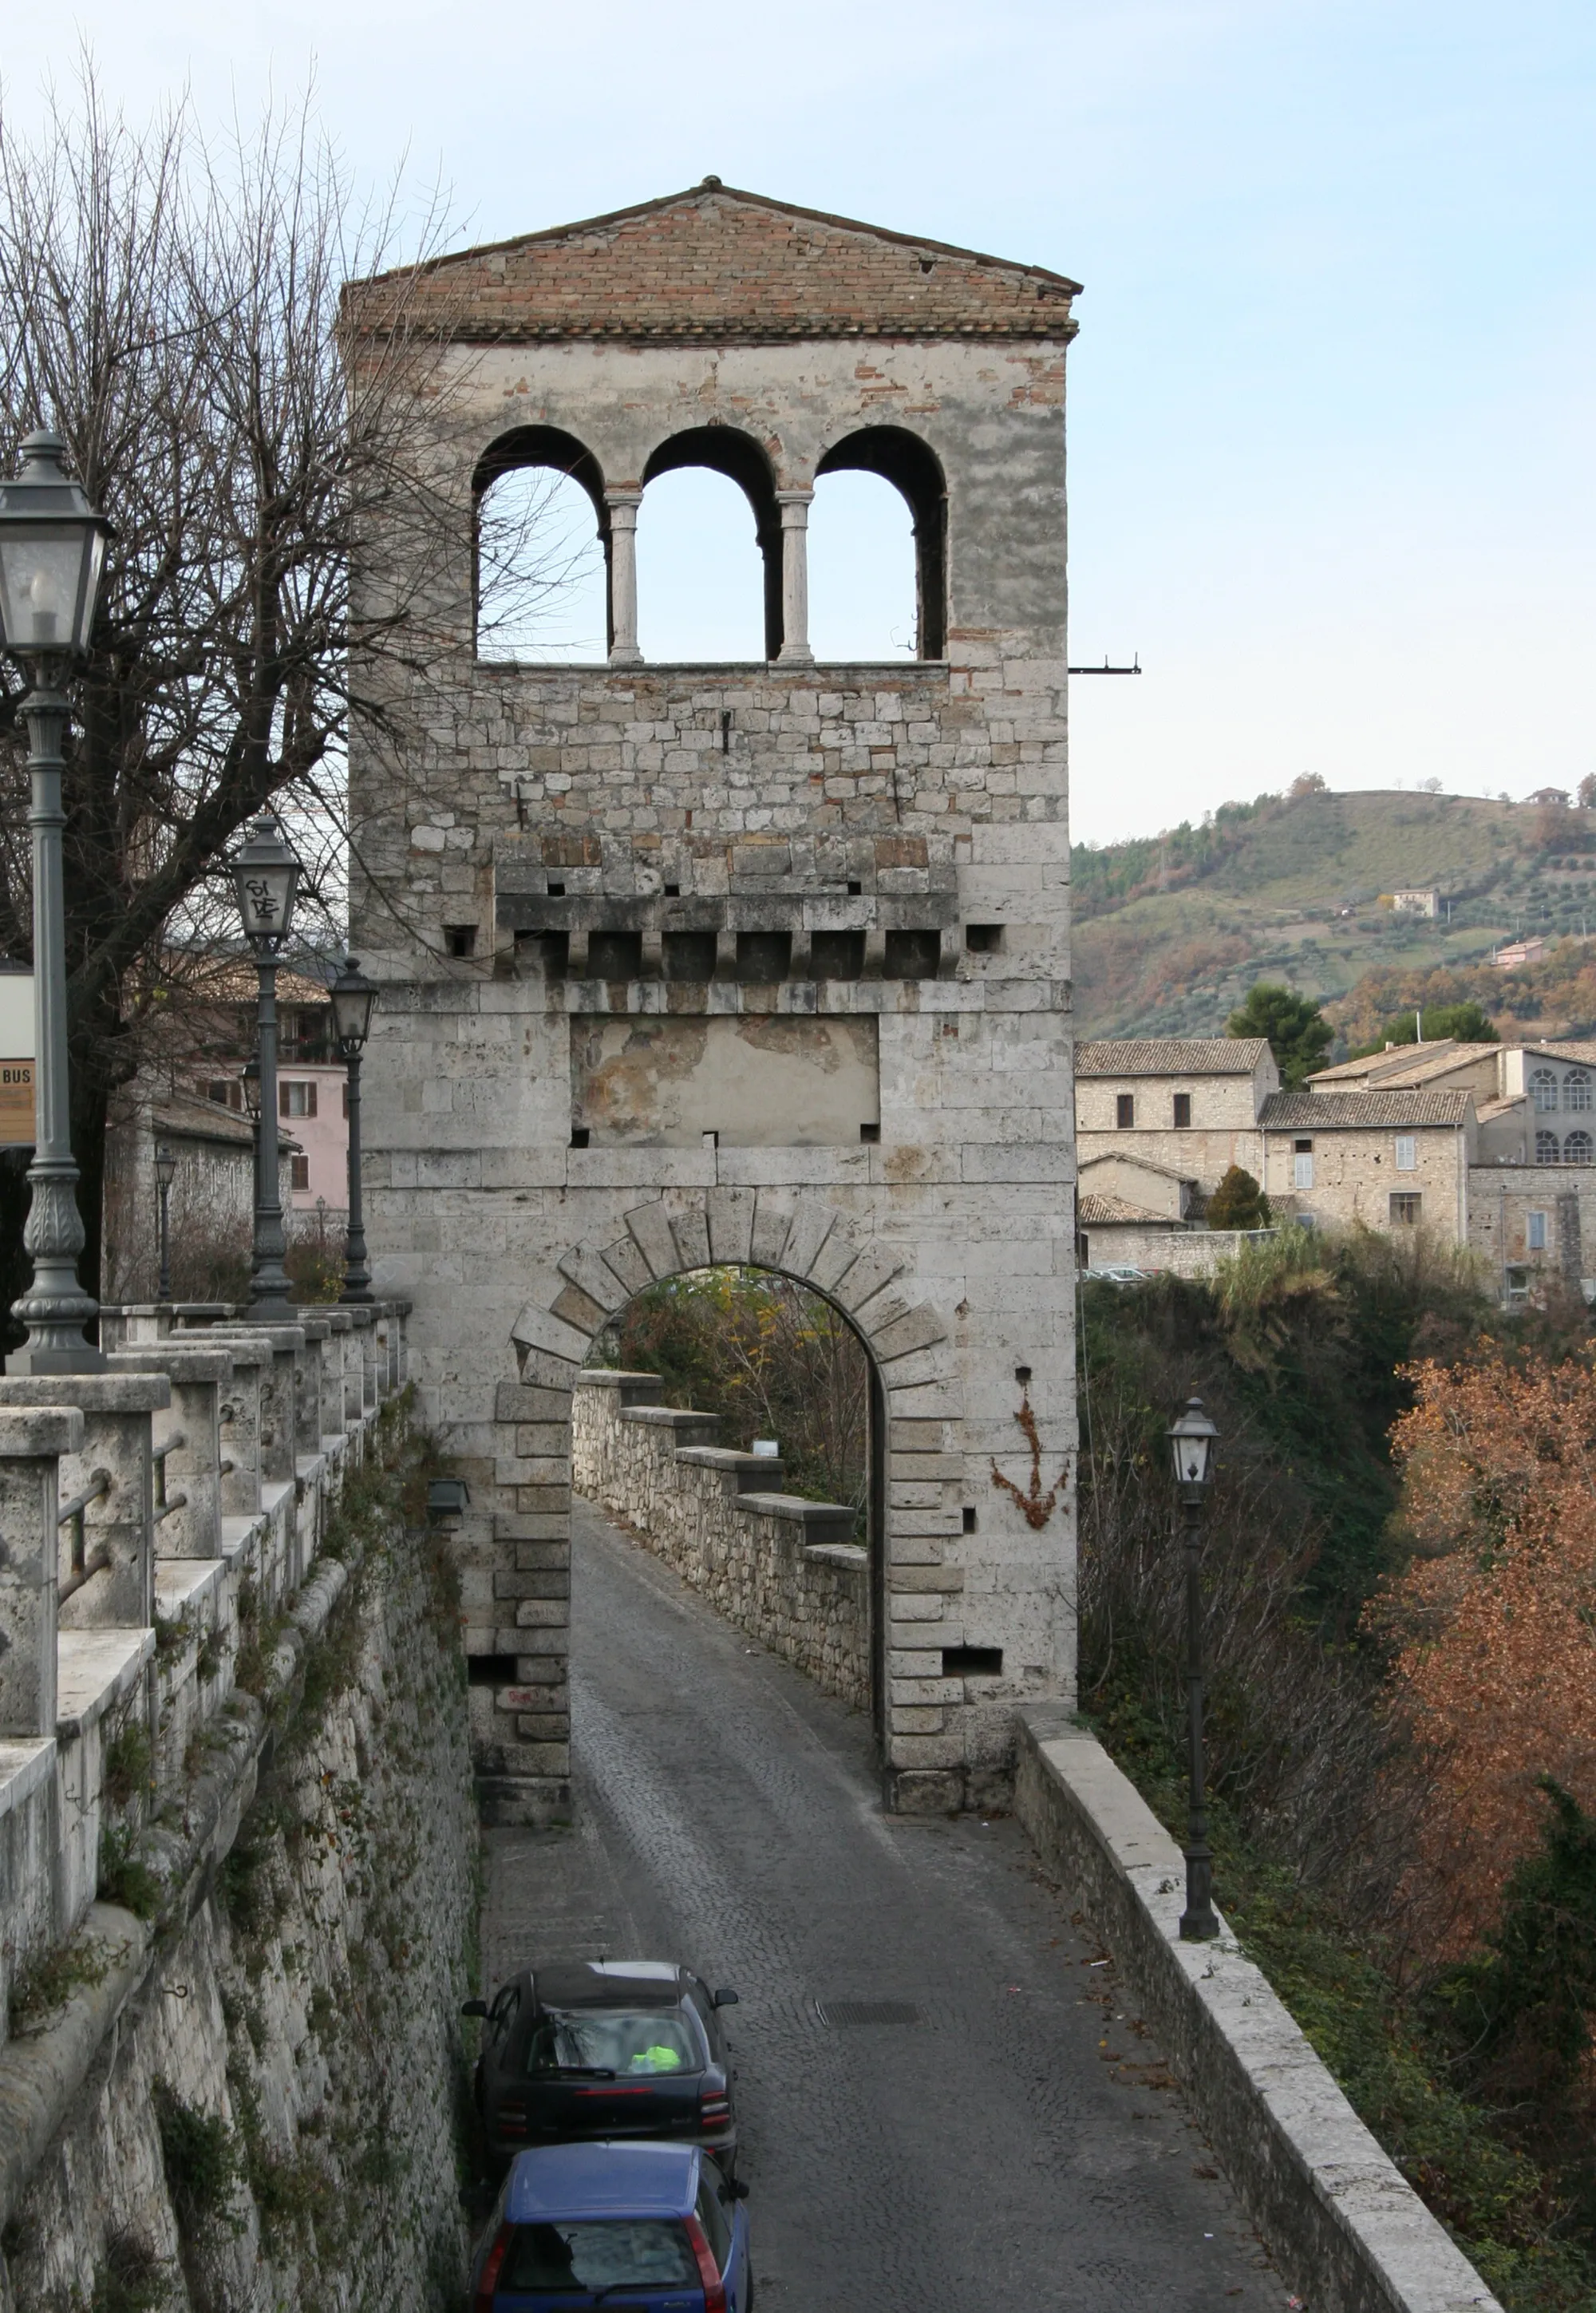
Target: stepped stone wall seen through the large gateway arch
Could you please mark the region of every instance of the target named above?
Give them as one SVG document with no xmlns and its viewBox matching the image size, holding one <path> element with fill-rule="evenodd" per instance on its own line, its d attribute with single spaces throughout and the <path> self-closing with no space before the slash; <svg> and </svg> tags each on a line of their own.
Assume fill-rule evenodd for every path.
<svg viewBox="0 0 1596 2313">
<path fill-rule="evenodd" d="M 784 1494 L 770 1455 L 717 1446 L 719 1418 L 664 1406 L 655 1374 L 585 1372 L 571 1483 L 710 1605 L 817 1686 L 870 1707 L 870 1552 L 851 1503 Z"/>
</svg>

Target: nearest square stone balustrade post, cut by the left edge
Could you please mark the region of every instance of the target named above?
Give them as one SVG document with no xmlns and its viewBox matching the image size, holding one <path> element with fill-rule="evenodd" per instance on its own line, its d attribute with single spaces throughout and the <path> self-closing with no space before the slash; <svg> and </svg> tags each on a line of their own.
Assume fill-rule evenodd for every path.
<svg viewBox="0 0 1596 2313">
<path fill-rule="evenodd" d="M 56 1732 L 58 1464 L 81 1448 L 76 1406 L 0 1413 L 0 1742 Z"/>
</svg>

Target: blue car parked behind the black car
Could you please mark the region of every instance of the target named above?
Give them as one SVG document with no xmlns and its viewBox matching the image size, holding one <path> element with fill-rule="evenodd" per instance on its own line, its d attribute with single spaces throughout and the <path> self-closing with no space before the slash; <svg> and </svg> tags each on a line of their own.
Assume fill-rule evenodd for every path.
<svg viewBox="0 0 1596 2313">
<path fill-rule="evenodd" d="M 749 2313 L 747 2186 L 696 2144 L 518 2153 L 472 2267 L 472 2313 Z"/>
</svg>

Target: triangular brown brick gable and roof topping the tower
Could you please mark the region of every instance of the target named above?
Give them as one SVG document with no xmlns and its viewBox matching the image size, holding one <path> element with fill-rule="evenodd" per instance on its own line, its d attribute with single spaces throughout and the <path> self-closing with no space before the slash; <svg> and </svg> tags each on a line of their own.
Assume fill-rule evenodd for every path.
<svg viewBox="0 0 1596 2313">
<path fill-rule="evenodd" d="M 1050 338 L 1073 335 L 1080 282 L 705 176 L 601 217 L 435 257 L 345 287 L 345 312 L 449 342 L 539 338 Z"/>
</svg>

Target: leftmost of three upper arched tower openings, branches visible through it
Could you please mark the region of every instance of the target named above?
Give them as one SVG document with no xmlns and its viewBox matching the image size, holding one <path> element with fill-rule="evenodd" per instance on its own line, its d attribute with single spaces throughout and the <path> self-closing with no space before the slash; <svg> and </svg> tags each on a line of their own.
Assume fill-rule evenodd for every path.
<svg viewBox="0 0 1596 2313">
<path fill-rule="evenodd" d="M 472 476 L 476 657 L 601 662 L 611 648 L 608 509 L 592 451 L 518 426 Z"/>
</svg>

